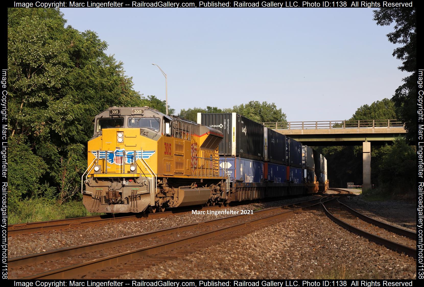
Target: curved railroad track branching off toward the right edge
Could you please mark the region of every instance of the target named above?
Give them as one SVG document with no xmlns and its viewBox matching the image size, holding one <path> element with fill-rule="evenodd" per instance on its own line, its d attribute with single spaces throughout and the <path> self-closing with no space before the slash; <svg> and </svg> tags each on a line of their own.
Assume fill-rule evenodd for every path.
<svg viewBox="0 0 424 287">
<path fill-rule="evenodd" d="M 339 200 L 337 200 L 337 204 L 339 204 L 339 207 L 341 205 L 342 208 L 329 207 L 328 204 L 322 202 L 326 215 L 332 221 L 377 244 L 416 258 L 416 248 L 414 248 L 416 246 L 416 234 L 363 215 Z"/>
</svg>

